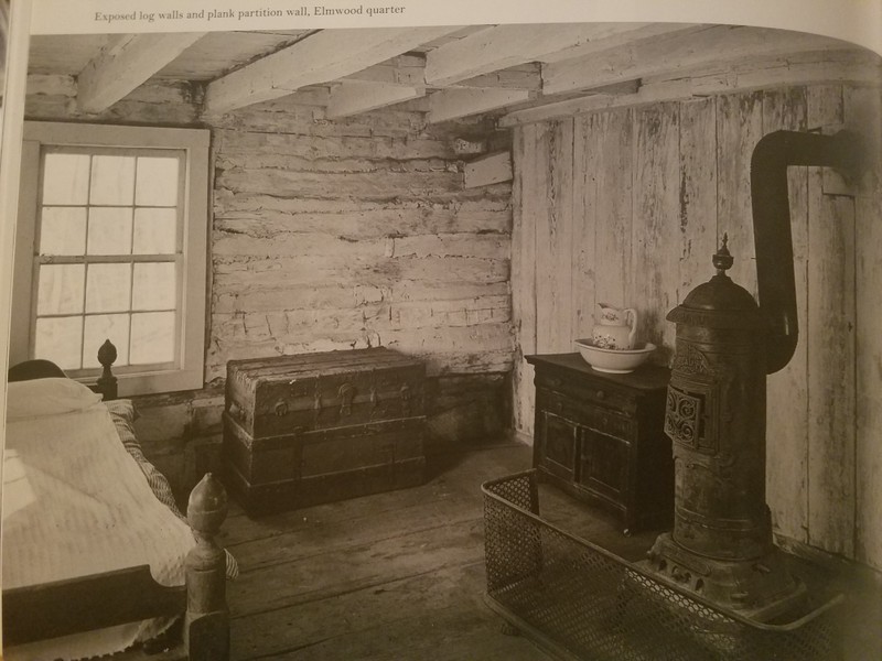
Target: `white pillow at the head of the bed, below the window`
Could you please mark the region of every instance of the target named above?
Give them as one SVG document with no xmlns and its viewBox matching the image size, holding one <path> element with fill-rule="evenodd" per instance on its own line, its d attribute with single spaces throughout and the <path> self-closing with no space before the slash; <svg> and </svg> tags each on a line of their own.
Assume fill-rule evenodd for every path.
<svg viewBox="0 0 882 661">
<path fill-rule="evenodd" d="M 73 379 L 49 378 L 7 384 L 7 420 L 85 411 L 101 395 Z"/>
</svg>

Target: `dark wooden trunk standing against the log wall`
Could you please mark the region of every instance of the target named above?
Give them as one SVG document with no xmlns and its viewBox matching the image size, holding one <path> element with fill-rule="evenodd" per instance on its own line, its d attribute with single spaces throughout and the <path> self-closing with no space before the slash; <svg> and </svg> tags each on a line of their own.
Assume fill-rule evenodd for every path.
<svg viewBox="0 0 882 661">
<path fill-rule="evenodd" d="M 424 373 L 383 347 L 230 360 L 230 490 L 260 514 L 422 484 Z"/>
</svg>

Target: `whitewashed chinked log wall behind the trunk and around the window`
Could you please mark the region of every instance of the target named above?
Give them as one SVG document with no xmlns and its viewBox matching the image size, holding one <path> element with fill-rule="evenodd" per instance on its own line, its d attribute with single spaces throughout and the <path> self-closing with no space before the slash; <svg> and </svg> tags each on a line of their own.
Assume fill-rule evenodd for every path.
<svg viewBox="0 0 882 661">
<path fill-rule="evenodd" d="M 32 119 L 198 123 L 189 86 L 77 118 L 68 82 L 39 83 Z M 492 127 L 394 111 L 330 121 L 289 98 L 209 128 L 207 387 L 139 400 L 151 458 L 180 488 L 207 460 L 186 440 L 218 429 L 232 358 L 383 345 L 427 361 L 430 449 L 507 426 L 510 183 L 465 189 L 453 152 Z"/>
</svg>

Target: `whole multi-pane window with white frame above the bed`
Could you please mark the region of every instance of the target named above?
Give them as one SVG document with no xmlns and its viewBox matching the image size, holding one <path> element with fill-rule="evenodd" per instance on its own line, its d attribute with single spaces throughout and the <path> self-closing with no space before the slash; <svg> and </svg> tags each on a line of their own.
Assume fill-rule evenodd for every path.
<svg viewBox="0 0 882 661">
<path fill-rule="evenodd" d="M 26 122 L 12 361 L 126 394 L 203 384 L 208 132 Z"/>
</svg>

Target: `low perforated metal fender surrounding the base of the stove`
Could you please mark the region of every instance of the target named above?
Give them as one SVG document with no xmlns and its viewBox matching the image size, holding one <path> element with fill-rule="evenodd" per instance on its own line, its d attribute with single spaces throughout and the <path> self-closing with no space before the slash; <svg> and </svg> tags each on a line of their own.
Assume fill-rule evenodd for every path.
<svg viewBox="0 0 882 661">
<path fill-rule="evenodd" d="M 535 470 L 482 486 L 487 604 L 568 659 L 841 659 L 841 595 L 759 624 L 662 584 L 639 565 L 544 521 Z"/>
</svg>

